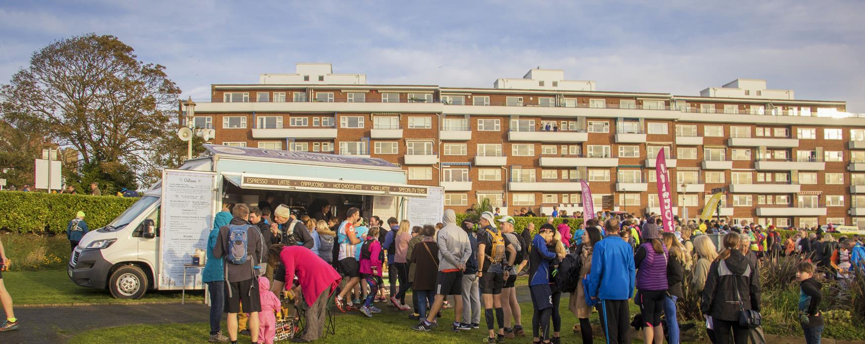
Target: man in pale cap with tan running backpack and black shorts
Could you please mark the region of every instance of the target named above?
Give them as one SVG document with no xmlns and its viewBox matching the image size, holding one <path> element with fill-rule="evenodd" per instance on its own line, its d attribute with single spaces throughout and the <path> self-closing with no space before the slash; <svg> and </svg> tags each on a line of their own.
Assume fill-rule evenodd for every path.
<svg viewBox="0 0 865 344">
<path fill-rule="evenodd" d="M 494 216 L 490 212 L 481 214 L 480 225 L 481 229 L 477 231 L 477 264 L 481 266 L 481 271 L 477 272 L 477 277 L 480 278 L 481 298 L 484 300 L 484 317 L 487 322 L 487 329 L 490 331 L 490 336 L 487 342 L 503 342 L 504 341 L 504 310 L 502 309 L 502 287 L 504 280 L 509 277 L 509 270 L 514 264 L 516 258 L 516 250 L 510 244 L 507 237 L 499 233 L 496 226 L 493 225 Z M 508 252 L 508 260 L 504 260 L 504 252 L 493 252 L 493 239 L 501 235 L 504 241 L 504 250 Z M 493 257 L 493 255 L 497 257 Z M 496 309 L 496 320 L 498 324 L 498 333 L 493 331 L 493 307 Z"/>
</svg>

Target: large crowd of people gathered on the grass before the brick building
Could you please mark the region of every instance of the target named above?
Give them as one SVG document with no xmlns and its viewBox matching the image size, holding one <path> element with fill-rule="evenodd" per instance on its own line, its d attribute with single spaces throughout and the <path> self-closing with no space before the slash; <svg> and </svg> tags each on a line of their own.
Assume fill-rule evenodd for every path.
<svg viewBox="0 0 865 344">
<path fill-rule="evenodd" d="M 855 266 L 865 266 L 862 239 L 836 240 L 821 230 L 785 238 L 774 226 L 678 219 L 675 228 L 663 228 L 656 214 L 605 212 L 573 213 L 585 220 L 575 228 L 567 222 L 554 226 L 553 216 L 538 228 L 534 222 L 517 228 L 516 219 L 498 215 L 498 209 L 481 213 L 477 222 L 458 223 L 456 213 L 446 210 L 441 223 L 411 224 L 363 219 L 354 207 L 343 220 L 327 205 L 311 211 L 313 217 L 285 205 L 271 212 L 271 202 L 230 205 L 215 217 L 204 271 L 212 342 L 236 342 L 239 332 L 253 342 L 272 342 L 274 314 L 284 310 L 287 296 L 301 309 L 292 316 L 305 318 L 303 332 L 293 339 L 298 342 L 322 335 L 332 303 L 338 311 L 367 317 L 387 304 L 405 311 L 417 331 L 438 328 L 441 310 L 452 308 L 454 319 L 446 328 L 459 333 L 485 325 L 486 343 L 526 335 L 533 343 L 559 343 L 565 296 L 567 310 L 579 320 L 573 331 L 584 343 L 593 342 L 589 317 L 595 311 L 609 343 L 630 343 L 631 327 L 642 329 L 645 343 L 677 343 L 689 329 L 676 319 L 687 284 L 702 295 L 699 306 L 714 343 L 759 343 L 765 342 L 762 330 L 746 315 L 759 312 L 759 269 L 772 255 L 808 258 L 798 265 L 800 314 L 806 338 L 818 342 L 819 281 L 843 282 Z M 533 216 L 524 209 L 515 214 Z M 554 215 L 567 213 L 554 209 Z M 238 247 L 241 230 L 250 230 L 245 247 Z M 719 235 L 708 235 L 713 233 Z M 523 328 L 515 288 L 527 266 L 529 329 Z M 693 277 L 686 279 L 686 270 Z M 638 304 L 638 314 L 631 315 L 630 302 Z M 220 328 L 223 313 L 227 336 Z"/>
</svg>

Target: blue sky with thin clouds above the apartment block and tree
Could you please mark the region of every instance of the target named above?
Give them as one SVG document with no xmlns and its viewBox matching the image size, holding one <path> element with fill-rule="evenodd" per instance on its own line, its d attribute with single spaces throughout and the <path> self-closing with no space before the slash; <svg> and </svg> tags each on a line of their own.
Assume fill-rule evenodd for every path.
<svg viewBox="0 0 865 344">
<path fill-rule="evenodd" d="M 10 1 L 0 83 L 51 41 L 116 35 L 183 97 L 330 62 L 371 84 L 492 86 L 562 68 L 598 90 L 698 95 L 765 79 L 865 112 L 865 1 Z"/>
</svg>

